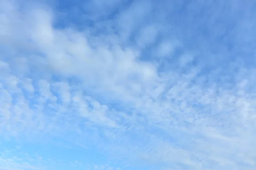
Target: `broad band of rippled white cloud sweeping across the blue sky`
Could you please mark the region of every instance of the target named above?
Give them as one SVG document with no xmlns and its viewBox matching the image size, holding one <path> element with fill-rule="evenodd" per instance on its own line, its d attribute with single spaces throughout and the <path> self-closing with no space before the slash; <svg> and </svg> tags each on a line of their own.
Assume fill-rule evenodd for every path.
<svg viewBox="0 0 256 170">
<path fill-rule="evenodd" d="M 108 21 L 117 33 L 107 36 L 92 34 L 96 27 L 57 28 L 54 11 L 37 6 L 23 12 L 19 3 L 0 2 L 6 7 L 0 8 L 0 47 L 16 51 L 0 55 L 0 136 L 61 136 L 94 144 L 116 160 L 160 162 L 167 169 L 255 166 L 255 70 L 231 60 L 219 64 L 225 56 L 218 53 L 234 52 L 207 44 L 201 34 L 197 39 L 200 23 L 190 30 L 183 26 L 192 23 L 188 16 L 178 24 L 172 20 L 184 35 L 159 40 L 148 54 L 163 56 L 159 63 L 143 56 L 143 47 L 164 34 L 159 23 L 148 23 L 155 6 L 146 1 L 118 12 Z M 187 34 L 198 42 L 187 45 Z M 131 45 L 132 36 L 138 46 Z M 69 139 L 70 132 L 76 138 Z"/>
</svg>

